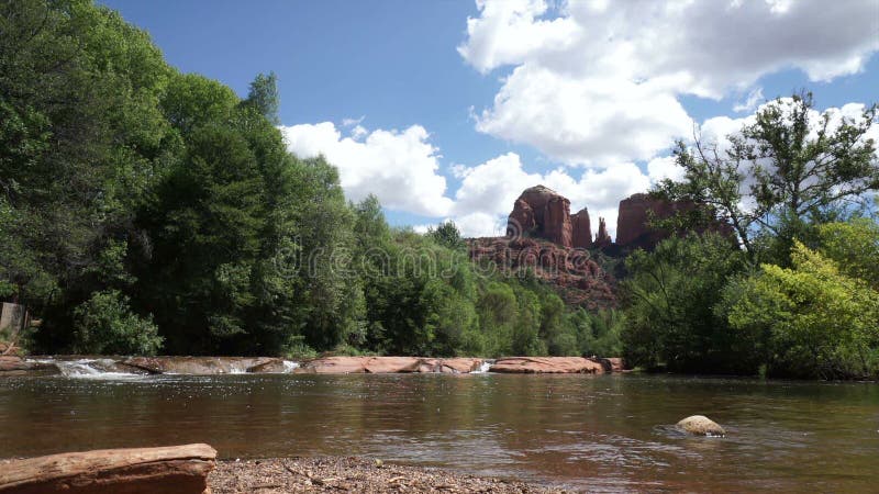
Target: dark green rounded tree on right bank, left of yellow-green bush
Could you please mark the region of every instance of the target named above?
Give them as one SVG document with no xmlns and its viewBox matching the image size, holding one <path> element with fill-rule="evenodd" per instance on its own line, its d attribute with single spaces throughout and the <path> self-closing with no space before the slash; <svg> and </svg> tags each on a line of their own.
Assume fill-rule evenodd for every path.
<svg viewBox="0 0 879 494">
<path fill-rule="evenodd" d="M 747 341 L 714 310 L 727 280 L 744 266 L 743 254 L 716 234 L 669 238 L 653 252 L 635 251 L 623 282 L 627 361 L 675 371 L 749 370 Z"/>
</svg>

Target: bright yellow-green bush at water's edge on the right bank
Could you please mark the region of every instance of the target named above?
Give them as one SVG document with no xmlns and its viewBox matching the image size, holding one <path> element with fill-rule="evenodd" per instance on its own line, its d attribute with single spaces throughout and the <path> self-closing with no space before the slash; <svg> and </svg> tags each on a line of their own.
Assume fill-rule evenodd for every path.
<svg viewBox="0 0 879 494">
<path fill-rule="evenodd" d="M 879 292 L 800 243 L 791 258 L 792 268 L 764 265 L 747 281 L 730 311 L 731 325 L 768 336 L 777 374 L 879 375 Z"/>
</svg>

